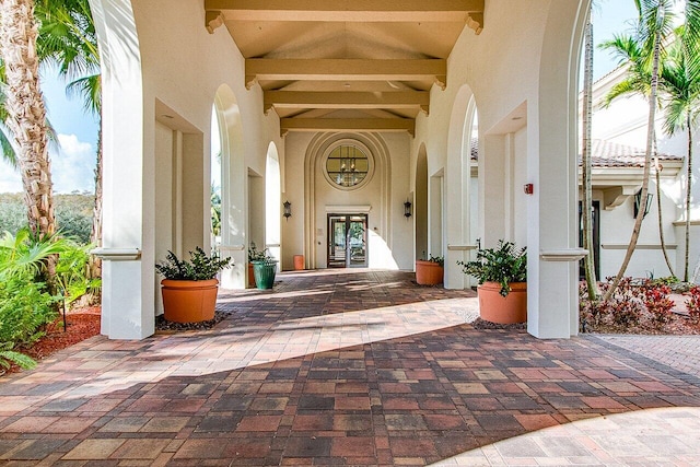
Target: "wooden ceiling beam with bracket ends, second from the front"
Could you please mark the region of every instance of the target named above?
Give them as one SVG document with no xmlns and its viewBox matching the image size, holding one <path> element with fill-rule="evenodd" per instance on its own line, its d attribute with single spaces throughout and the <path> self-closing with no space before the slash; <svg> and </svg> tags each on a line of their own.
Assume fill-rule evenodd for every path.
<svg viewBox="0 0 700 467">
<path fill-rule="evenodd" d="M 447 60 L 266 59 L 245 61 L 246 87 L 255 81 L 421 81 L 445 87 Z"/>
</svg>

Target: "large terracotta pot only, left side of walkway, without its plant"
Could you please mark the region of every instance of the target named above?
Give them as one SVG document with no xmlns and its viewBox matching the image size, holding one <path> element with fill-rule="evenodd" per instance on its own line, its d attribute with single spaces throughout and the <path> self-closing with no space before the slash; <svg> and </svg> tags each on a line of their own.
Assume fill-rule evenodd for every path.
<svg viewBox="0 0 700 467">
<path fill-rule="evenodd" d="M 175 323 L 198 323 L 213 319 L 219 281 L 172 280 L 161 281 L 165 319 Z"/>
</svg>

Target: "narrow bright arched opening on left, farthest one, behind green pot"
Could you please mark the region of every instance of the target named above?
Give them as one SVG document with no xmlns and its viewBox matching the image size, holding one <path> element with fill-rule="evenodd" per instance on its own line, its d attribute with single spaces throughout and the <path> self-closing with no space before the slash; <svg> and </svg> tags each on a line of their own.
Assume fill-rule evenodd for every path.
<svg viewBox="0 0 700 467">
<path fill-rule="evenodd" d="M 267 149 L 265 164 L 265 247 L 275 259 L 281 259 L 281 176 L 280 161 L 275 143 Z M 278 264 L 278 269 L 281 262 Z"/>
</svg>

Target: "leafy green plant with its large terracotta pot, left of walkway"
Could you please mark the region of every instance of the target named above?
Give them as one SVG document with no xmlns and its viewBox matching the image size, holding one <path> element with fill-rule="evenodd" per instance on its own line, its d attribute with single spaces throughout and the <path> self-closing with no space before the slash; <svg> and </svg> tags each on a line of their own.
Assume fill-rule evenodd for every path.
<svg viewBox="0 0 700 467">
<path fill-rule="evenodd" d="M 217 275 L 231 267 L 231 258 L 207 255 L 197 247 L 189 260 L 167 252 L 164 261 L 155 265 L 161 281 L 165 319 L 176 323 L 198 323 L 213 319 L 219 280 Z"/>
</svg>

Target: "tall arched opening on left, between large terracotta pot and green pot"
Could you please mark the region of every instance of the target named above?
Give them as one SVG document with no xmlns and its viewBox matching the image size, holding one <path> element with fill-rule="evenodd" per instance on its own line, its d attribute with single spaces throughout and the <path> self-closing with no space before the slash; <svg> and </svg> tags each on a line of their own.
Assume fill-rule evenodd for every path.
<svg viewBox="0 0 700 467">
<path fill-rule="evenodd" d="M 212 112 L 212 140 L 218 136 L 220 154 L 221 226 L 219 250 L 222 256 L 233 258 L 234 267 L 221 275 L 225 289 L 243 289 L 247 275 L 245 176 L 243 153 L 243 128 L 241 112 L 233 91 L 221 85 L 214 97 Z M 217 128 L 213 130 L 213 128 Z M 215 156 L 212 141 L 212 157 Z M 212 170 L 212 177 L 213 175 Z"/>
</svg>

